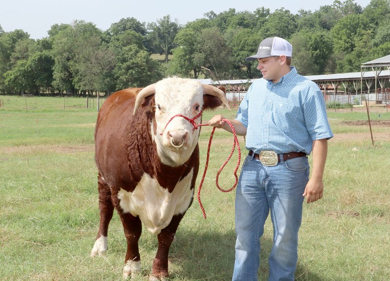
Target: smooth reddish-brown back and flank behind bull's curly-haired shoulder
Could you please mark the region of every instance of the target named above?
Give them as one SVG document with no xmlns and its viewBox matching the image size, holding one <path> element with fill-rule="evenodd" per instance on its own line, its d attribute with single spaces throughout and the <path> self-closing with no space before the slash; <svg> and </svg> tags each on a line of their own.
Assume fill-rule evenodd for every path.
<svg viewBox="0 0 390 281">
<path fill-rule="evenodd" d="M 131 139 L 129 123 L 141 88 L 129 88 L 112 94 L 99 110 L 95 129 L 95 159 L 106 181 L 120 180 L 127 168 L 127 145 Z"/>
</svg>

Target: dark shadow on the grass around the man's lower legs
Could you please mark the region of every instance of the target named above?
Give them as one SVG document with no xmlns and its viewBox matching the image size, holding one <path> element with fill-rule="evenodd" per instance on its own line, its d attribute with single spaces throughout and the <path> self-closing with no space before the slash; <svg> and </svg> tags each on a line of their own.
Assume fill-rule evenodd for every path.
<svg viewBox="0 0 390 281">
<path fill-rule="evenodd" d="M 258 280 L 268 280 L 268 256 L 272 240 L 261 239 L 261 255 Z M 235 233 L 214 233 L 212 230 L 182 230 L 176 233 L 171 246 L 169 261 L 170 280 L 230 281 L 234 267 Z M 296 281 L 324 281 L 298 261 Z"/>
</svg>

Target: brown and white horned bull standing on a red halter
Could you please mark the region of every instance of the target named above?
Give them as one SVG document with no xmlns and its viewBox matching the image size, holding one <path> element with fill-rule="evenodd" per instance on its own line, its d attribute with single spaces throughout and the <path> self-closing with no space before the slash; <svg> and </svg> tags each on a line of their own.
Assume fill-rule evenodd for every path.
<svg viewBox="0 0 390 281">
<path fill-rule="evenodd" d="M 181 78 L 121 90 L 104 102 L 95 131 L 100 225 L 91 256 L 107 250 L 115 208 L 127 240 L 123 277 L 140 271 L 141 222 L 158 240 L 149 279 L 168 277 L 169 248 L 194 197 L 200 131 L 184 118 L 171 118 L 193 119 L 222 103 L 229 108 L 224 91 Z"/>
</svg>

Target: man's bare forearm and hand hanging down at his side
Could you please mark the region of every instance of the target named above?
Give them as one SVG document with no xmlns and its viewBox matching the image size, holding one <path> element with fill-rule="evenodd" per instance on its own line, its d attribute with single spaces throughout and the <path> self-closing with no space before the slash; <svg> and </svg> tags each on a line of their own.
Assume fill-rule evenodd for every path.
<svg viewBox="0 0 390 281">
<path fill-rule="evenodd" d="M 322 198 L 324 192 L 324 168 L 325 161 L 328 155 L 328 140 L 315 140 L 313 141 L 313 168 L 312 177 L 308 184 L 306 184 L 305 192 L 303 196 L 307 196 L 306 202 L 315 202 Z"/>
</svg>

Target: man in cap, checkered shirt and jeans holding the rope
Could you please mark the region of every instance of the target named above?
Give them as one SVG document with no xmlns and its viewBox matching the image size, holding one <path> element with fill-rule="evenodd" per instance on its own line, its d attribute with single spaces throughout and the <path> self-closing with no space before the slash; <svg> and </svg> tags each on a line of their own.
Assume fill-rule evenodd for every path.
<svg viewBox="0 0 390 281">
<path fill-rule="evenodd" d="M 292 45 L 282 38 L 261 41 L 257 53 L 263 79 L 254 81 L 231 122 L 246 135 L 235 197 L 233 281 L 256 281 L 260 237 L 270 213 L 273 247 L 269 281 L 293 281 L 298 260 L 302 205 L 323 196 L 323 172 L 333 137 L 318 86 L 291 67 Z M 232 132 L 221 115 L 209 124 Z M 309 161 L 312 153 L 312 176 Z"/>
</svg>

